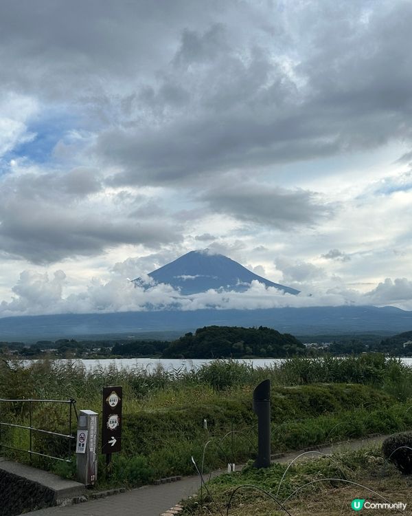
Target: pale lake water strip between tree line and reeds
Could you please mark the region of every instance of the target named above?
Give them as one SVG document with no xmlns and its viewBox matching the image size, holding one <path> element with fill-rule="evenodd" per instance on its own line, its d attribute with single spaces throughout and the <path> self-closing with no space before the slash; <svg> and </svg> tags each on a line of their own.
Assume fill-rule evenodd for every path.
<svg viewBox="0 0 412 516">
<path fill-rule="evenodd" d="M 402 357 L 400 360 L 412 367 L 411 357 Z M 198 369 L 204 364 L 213 362 L 207 358 L 193 358 L 192 360 L 183 360 L 181 358 L 102 358 L 100 360 L 93 358 L 75 358 L 75 359 L 60 359 L 60 362 L 79 362 L 87 369 L 115 367 L 116 369 L 146 369 L 148 372 L 155 371 L 158 367 L 162 367 L 165 371 L 173 371 L 176 369 Z M 283 358 L 250 358 L 250 359 L 234 359 L 238 363 L 247 363 L 253 367 L 264 367 L 282 363 Z M 30 361 L 27 361 L 30 363 Z"/>
</svg>

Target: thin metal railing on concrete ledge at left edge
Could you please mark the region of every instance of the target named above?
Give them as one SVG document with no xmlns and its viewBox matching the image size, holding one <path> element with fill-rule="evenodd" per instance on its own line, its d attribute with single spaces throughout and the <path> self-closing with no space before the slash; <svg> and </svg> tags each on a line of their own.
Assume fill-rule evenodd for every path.
<svg viewBox="0 0 412 516">
<path fill-rule="evenodd" d="M 22 399 L 22 400 L 9 400 L 9 399 L 3 399 L 0 398 L 0 404 L 1 403 L 28 403 L 29 404 L 29 424 L 28 426 L 25 424 L 15 424 L 10 422 L 5 422 L 1 420 L 1 410 L 0 410 L 0 449 L 1 448 L 7 448 L 12 449 L 16 451 L 24 451 L 26 453 L 30 453 L 30 461 L 32 460 L 32 455 L 41 455 L 41 457 L 47 457 L 49 459 L 54 460 L 61 460 L 62 462 L 72 462 L 71 461 L 71 451 L 72 451 L 72 445 L 74 439 L 76 439 L 76 436 L 72 435 L 72 424 L 73 424 L 73 413 L 74 416 L 76 416 L 76 426 L 77 426 L 77 419 L 78 414 L 76 411 L 76 400 L 36 400 L 36 399 Z M 45 429 L 35 428 L 33 427 L 33 409 L 32 404 L 33 403 L 67 403 L 69 405 L 69 410 L 67 411 L 67 418 L 68 418 L 68 426 L 69 426 L 69 433 L 59 433 L 54 431 L 49 431 Z M 1 408 L 1 405 L 0 405 Z M 5 444 L 2 442 L 2 431 L 1 429 L 3 427 L 9 427 L 9 428 L 21 428 L 29 431 L 29 449 L 23 449 L 18 447 L 10 446 L 10 444 Z M 53 455 L 47 455 L 47 453 L 40 453 L 38 451 L 34 451 L 32 449 L 33 447 L 33 432 L 43 433 L 49 436 L 56 436 L 63 439 L 67 439 L 68 445 L 67 445 L 67 458 L 61 458 L 61 457 L 54 457 Z"/>
</svg>

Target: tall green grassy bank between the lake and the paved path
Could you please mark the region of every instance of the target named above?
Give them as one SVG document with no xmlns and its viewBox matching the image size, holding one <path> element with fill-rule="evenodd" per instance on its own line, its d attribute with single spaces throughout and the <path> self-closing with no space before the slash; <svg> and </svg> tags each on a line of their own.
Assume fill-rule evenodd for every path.
<svg viewBox="0 0 412 516">
<path fill-rule="evenodd" d="M 251 458 L 256 447 L 252 393 L 265 378 L 272 383 L 273 451 L 412 427 L 412 409 L 408 410 L 412 405 L 411 369 L 375 354 L 343 359 L 292 358 L 277 367 L 258 369 L 216 361 L 192 372 L 158 369 L 153 373 L 117 371 L 115 367 L 87 371 L 76 362 L 41 361 L 30 367 L 0 362 L 4 398 L 74 398 L 78 409 L 101 412 L 102 387 L 123 386 L 122 453 L 113 456 L 112 484 L 139 485 L 159 477 L 193 473 L 190 458 L 193 455 L 201 461 L 209 440 L 205 469 Z M 27 409 L 18 403 L 3 405 L 2 413 L 9 422 L 28 420 Z M 40 428 L 67 429 L 67 413 L 62 407 L 52 411 L 38 407 L 32 417 Z M 27 431 L 3 431 L 5 438 L 14 447 L 23 448 Z M 34 444 L 56 456 L 65 453 L 67 446 L 47 436 L 36 436 Z M 25 454 L 8 453 L 27 460 Z M 104 457 L 100 462 L 104 472 Z M 43 458 L 34 458 L 34 464 L 73 474 L 70 464 Z M 104 474 L 100 479 L 104 482 Z"/>
</svg>

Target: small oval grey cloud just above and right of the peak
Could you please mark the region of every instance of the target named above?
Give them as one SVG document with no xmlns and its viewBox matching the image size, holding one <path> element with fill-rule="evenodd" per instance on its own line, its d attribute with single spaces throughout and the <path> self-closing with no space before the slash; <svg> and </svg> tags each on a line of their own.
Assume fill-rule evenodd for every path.
<svg viewBox="0 0 412 516">
<path fill-rule="evenodd" d="M 220 185 L 202 199 L 214 211 L 282 230 L 312 226 L 331 213 L 331 207 L 321 204 L 314 193 L 257 183 Z"/>
</svg>

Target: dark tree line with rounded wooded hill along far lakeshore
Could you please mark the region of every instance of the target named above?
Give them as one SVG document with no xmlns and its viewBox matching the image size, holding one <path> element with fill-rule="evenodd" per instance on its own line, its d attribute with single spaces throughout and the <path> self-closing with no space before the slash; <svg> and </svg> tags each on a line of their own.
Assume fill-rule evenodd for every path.
<svg viewBox="0 0 412 516">
<path fill-rule="evenodd" d="M 246 328 L 216 325 L 198 328 L 195 332 L 188 332 L 173 341 L 155 338 L 76 341 L 74 338 L 60 338 L 57 341 L 37 341 L 32 345 L 0 341 L 0 355 L 14 354 L 24 358 L 40 358 L 46 355 L 62 358 L 282 358 L 293 354 L 319 354 L 319 350 L 306 349 L 301 342 L 314 340 L 330 341 L 323 352 L 332 355 L 383 352 L 392 356 L 412 356 L 412 332 L 383 339 L 376 334 L 358 334 L 336 337 L 305 336 L 299 340 L 291 334 L 281 334 L 263 326 Z"/>
</svg>

